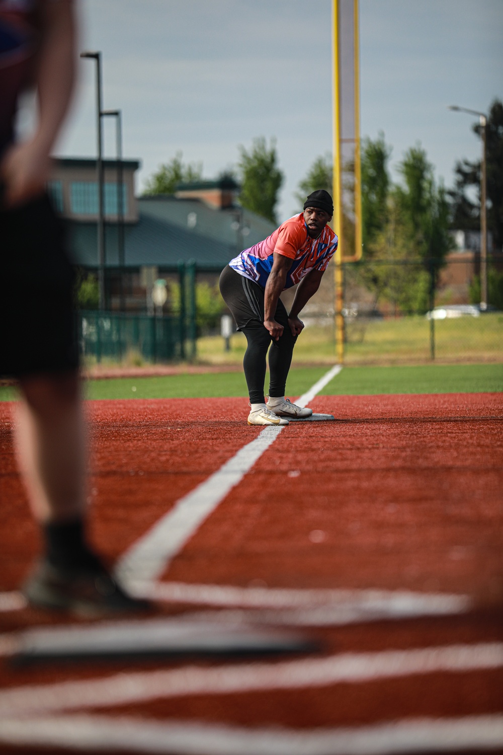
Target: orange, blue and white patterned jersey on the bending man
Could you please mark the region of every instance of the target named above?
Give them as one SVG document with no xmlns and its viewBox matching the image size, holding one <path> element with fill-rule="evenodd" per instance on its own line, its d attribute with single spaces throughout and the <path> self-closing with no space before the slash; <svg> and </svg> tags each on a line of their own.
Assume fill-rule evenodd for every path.
<svg viewBox="0 0 503 755">
<path fill-rule="evenodd" d="M 238 257 L 229 262 L 229 266 L 236 273 L 265 288 L 274 253 L 284 254 L 293 260 L 285 282 L 285 288 L 291 288 L 311 270 L 324 273 L 336 248 L 337 236 L 328 226 L 324 227 L 317 239 L 311 239 L 301 212 L 281 223 L 267 239 L 238 254 Z"/>
</svg>

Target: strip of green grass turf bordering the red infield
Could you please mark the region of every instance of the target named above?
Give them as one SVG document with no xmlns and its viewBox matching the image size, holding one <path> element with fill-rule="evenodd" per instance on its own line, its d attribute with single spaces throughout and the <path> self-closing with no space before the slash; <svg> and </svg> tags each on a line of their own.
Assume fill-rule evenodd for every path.
<svg viewBox="0 0 503 755">
<path fill-rule="evenodd" d="M 289 396 L 300 396 L 327 368 L 292 368 Z M 267 390 L 267 388 L 266 388 Z M 419 365 L 416 367 L 347 367 L 321 392 L 325 396 L 384 393 L 492 393 L 503 391 L 503 365 Z M 87 399 L 170 399 L 246 396 L 242 372 L 121 377 L 86 381 Z M 0 400 L 14 399 L 12 387 L 0 387 Z"/>
</svg>

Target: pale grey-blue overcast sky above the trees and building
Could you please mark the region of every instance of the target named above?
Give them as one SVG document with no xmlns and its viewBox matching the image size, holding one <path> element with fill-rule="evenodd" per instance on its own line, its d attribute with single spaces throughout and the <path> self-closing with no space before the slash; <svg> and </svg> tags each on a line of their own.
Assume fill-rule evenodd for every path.
<svg viewBox="0 0 503 755">
<path fill-rule="evenodd" d="M 285 174 L 278 217 L 296 210 L 297 183 L 332 145 L 331 0 L 78 5 L 81 49 L 103 53 L 103 104 L 123 112 L 124 156 L 142 161 L 138 190 L 178 149 L 211 178 L 263 135 Z M 446 106 L 503 99 L 502 40 L 503 0 L 360 0 L 361 134 L 385 132 L 394 168 L 421 142 L 450 185 L 455 159 L 477 158 L 480 143 L 471 117 Z M 82 61 L 57 153 L 94 156 L 94 117 L 94 63 Z"/>
</svg>

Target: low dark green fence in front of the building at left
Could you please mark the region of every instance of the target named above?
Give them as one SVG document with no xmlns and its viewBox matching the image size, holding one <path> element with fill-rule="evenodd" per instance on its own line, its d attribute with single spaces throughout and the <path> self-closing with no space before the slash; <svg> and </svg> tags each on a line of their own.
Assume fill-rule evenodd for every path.
<svg viewBox="0 0 503 755">
<path fill-rule="evenodd" d="M 184 331 L 179 317 L 116 312 L 81 311 L 77 317 L 82 356 L 121 359 L 136 351 L 147 362 L 170 362 L 185 356 Z"/>
</svg>

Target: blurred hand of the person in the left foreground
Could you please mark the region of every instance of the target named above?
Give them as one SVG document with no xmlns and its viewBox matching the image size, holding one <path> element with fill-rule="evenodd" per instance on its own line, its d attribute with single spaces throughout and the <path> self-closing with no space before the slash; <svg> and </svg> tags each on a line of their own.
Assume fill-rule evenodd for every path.
<svg viewBox="0 0 503 755">
<path fill-rule="evenodd" d="M 47 149 L 41 149 L 35 140 L 8 149 L 0 164 L 5 208 L 22 205 L 43 193 L 50 165 Z"/>
</svg>

